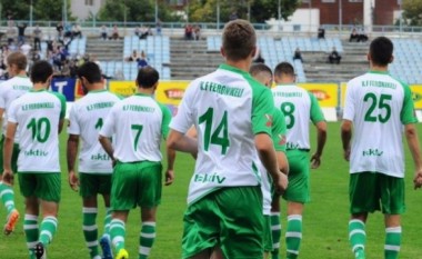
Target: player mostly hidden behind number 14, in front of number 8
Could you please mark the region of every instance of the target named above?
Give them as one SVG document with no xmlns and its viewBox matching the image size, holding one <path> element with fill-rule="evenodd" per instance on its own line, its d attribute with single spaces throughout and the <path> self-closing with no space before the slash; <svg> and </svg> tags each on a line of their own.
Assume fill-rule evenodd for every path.
<svg viewBox="0 0 422 259">
<path fill-rule="evenodd" d="M 273 82 L 272 71 L 263 63 L 252 64 L 249 72 L 263 86 L 271 88 Z M 280 109 L 274 107 L 272 114 L 272 142 L 277 151 L 279 168 L 289 173 L 289 162 L 285 157 L 285 120 Z M 280 249 L 281 223 L 280 223 L 280 195 L 271 193 L 271 181 L 267 171 L 262 172 L 262 196 L 264 213 L 264 251 L 272 252 Z M 275 253 L 275 252 L 274 252 Z M 275 253 L 278 255 L 278 252 Z"/>
</svg>

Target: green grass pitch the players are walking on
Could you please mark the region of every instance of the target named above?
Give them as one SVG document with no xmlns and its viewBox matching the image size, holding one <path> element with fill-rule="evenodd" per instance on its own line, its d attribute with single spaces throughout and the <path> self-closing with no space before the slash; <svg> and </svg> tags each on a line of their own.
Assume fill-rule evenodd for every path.
<svg viewBox="0 0 422 259">
<path fill-rule="evenodd" d="M 422 136 L 422 124 L 418 126 Z M 81 199 L 68 185 L 66 172 L 66 135 L 61 136 L 62 158 L 62 201 L 59 210 L 59 229 L 52 245 L 49 247 L 49 258 L 89 258 L 84 246 L 81 226 Z M 388 141 L 388 140 L 386 140 Z M 312 132 L 312 143 L 314 143 Z M 406 206 L 403 216 L 402 259 L 422 259 L 422 193 L 412 189 L 413 163 L 406 155 Z M 175 166 L 173 186 L 163 188 L 162 205 L 158 210 L 158 235 L 151 251 L 151 259 L 180 258 L 182 237 L 182 216 L 185 209 L 185 198 L 193 160 L 190 156 L 179 153 Z M 329 123 L 329 141 L 322 158 L 322 166 L 311 171 L 312 202 L 304 211 L 303 241 L 301 258 L 353 258 L 348 242 L 348 163 L 342 158 L 340 141 L 340 123 Z M 17 205 L 23 217 L 22 197 L 18 187 Z M 102 203 L 102 202 L 101 202 Z M 285 203 L 282 203 L 282 210 Z M 102 222 L 104 210 L 101 207 L 99 222 Z M 4 208 L 0 208 L 0 219 L 6 217 Z M 282 216 L 283 228 L 285 215 Z M 10 237 L 0 236 L 0 258 L 27 258 L 26 242 L 22 230 L 22 218 L 16 232 Z M 101 225 L 100 225 L 101 226 Z M 131 258 L 138 258 L 138 239 L 140 231 L 139 210 L 132 210 L 127 226 L 127 247 Z M 368 258 L 383 258 L 384 227 L 381 213 L 371 215 L 366 225 Z M 282 247 L 285 248 L 282 242 Z"/>
</svg>

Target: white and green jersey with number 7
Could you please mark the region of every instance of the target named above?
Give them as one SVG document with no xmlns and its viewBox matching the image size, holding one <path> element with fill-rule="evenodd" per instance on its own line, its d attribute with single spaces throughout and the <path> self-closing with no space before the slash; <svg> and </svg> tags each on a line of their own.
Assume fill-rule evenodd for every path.
<svg viewBox="0 0 422 259">
<path fill-rule="evenodd" d="M 169 135 L 171 112 L 151 96 L 135 93 L 117 102 L 100 135 L 113 137 L 114 158 L 121 162 L 162 159 L 160 145 Z"/>
</svg>

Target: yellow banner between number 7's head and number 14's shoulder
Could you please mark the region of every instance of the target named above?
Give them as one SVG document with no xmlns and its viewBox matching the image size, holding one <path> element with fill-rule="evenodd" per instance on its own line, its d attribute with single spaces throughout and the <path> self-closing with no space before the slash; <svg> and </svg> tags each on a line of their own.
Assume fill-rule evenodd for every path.
<svg viewBox="0 0 422 259">
<path fill-rule="evenodd" d="M 160 81 L 155 91 L 157 101 L 179 106 L 190 81 Z"/>
</svg>

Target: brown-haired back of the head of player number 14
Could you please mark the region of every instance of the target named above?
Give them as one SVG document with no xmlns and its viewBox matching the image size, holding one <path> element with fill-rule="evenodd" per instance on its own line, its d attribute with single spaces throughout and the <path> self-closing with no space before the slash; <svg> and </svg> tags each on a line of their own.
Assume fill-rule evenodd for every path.
<svg viewBox="0 0 422 259">
<path fill-rule="evenodd" d="M 245 20 L 233 20 L 225 24 L 222 36 L 222 50 L 232 61 L 254 56 L 257 34 L 252 24 Z"/>
</svg>

